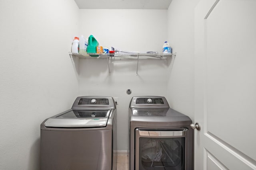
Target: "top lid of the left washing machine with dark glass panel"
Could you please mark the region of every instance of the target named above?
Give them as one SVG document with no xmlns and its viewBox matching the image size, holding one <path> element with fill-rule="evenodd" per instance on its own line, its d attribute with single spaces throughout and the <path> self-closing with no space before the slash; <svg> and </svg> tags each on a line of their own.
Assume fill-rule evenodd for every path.
<svg viewBox="0 0 256 170">
<path fill-rule="evenodd" d="M 45 127 L 106 127 L 111 109 L 108 110 L 70 110 L 51 117 L 45 122 Z"/>
</svg>

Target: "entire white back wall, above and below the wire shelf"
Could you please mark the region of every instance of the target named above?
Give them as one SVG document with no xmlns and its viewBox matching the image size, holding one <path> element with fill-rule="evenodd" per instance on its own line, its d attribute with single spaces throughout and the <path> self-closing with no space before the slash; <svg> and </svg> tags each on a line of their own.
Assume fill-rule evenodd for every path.
<svg viewBox="0 0 256 170">
<path fill-rule="evenodd" d="M 93 34 L 103 47 L 126 51 L 162 51 L 167 39 L 167 10 L 79 10 L 80 34 Z M 92 15 L 93 14 L 93 15 Z M 91 16 L 94 16 L 93 18 Z M 79 94 L 119 98 L 118 150 L 128 149 L 128 107 L 132 96 L 160 95 L 167 90 L 167 61 L 80 59 Z M 126 94 L 126 90 L 132 94 Z"/>
</svg>

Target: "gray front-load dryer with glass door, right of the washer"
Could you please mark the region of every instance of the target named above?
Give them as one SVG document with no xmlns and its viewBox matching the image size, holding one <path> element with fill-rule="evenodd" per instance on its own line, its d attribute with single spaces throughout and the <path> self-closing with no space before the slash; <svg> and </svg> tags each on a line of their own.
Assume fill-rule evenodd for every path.
<svg viewBox="0 0 256 170">
<path fill-rule="evenodd" d="M 133 97 L 129 107 L 130 170 L 194 170 L 191 123 L 162 96 Z"/>
</svg>

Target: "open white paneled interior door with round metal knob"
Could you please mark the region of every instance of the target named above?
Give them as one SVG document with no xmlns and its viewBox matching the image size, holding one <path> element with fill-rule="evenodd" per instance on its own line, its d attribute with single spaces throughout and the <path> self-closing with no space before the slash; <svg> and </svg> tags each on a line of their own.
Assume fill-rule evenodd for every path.
<svg viewBox="0 0 256 170">
<path fill-rule="evenodd" d="M 195 170 L 256 170 L 256 0 L 195 8 Z"/>
</svg>

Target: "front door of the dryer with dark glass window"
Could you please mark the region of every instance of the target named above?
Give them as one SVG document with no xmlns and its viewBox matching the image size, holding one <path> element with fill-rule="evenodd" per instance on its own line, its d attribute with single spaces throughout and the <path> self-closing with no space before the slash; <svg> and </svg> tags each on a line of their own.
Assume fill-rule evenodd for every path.
<svg viewBox="0 0 256 170">
<path fill-rule="evenodd" d="M 188 129 L 135 130 L 135 170 L 188 168 Z"/>
</svg>

